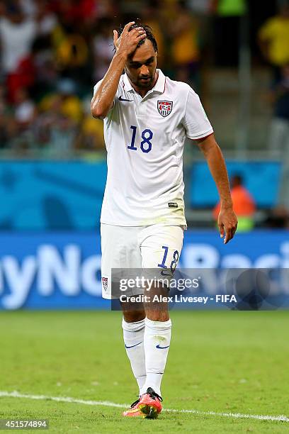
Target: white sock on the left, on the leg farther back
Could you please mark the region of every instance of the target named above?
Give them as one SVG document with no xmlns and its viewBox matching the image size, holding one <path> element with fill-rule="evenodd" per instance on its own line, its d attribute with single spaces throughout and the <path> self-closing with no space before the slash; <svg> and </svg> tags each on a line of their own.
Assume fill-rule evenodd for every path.
<svg viewBox="0 0 289 434">
<path fill-rule="evenodd" d="M 144 350 L 144 333 L 145 333 L 145 320 L 137 321 L 136 323 L 127 323 L 123 319 L 123 340 L 125 341 L 125 350 L 132 372 L 137 380 L 140 389 L 145 384 L 145 350 Z"/>
</svg>

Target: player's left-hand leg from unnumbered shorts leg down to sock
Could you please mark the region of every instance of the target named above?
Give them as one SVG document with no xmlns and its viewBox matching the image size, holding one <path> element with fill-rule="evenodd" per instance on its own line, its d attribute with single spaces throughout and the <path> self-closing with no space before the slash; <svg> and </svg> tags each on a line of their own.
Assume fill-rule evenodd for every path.
<svg viewBox="0 0 289 434">
<path fill-rule="evenodd" d="M 136 228 L 101 225 L 101 276 L 103 297 L 114 298 L 111 291 L 111 269 L 140 268 L 140 247 L 136 243 Z M 118 296 L 116 294 L 116 296 Z M 125 350 L 130 360 L 132 372 L 137 380 L 139 391 L 145 383 L 145 311 L 141 308 L 123 307 L 123 339 Z"/>
</svg>

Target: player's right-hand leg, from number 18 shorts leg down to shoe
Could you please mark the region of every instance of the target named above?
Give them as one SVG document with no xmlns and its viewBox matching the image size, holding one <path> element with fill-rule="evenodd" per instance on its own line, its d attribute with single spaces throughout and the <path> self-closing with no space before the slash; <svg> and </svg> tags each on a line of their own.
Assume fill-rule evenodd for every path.
<svg viewBox="0 0 289 434">
<path fill-rule="evenodd" d="M 145 228 L 142 232 L 142 267 L 146 270 L 151 269 L 152 274 L 159 271 L 157 277 L 160 279 L 170 279 L 174 273 L 181 248 L 183 246 L 183 228 L 180 226 L 153 225 Z M 161 274 L 162 273 L 162 274 Z M 150 273 L 149 273 L 150 274 Z M 149 299 L 145 306 L 145 365 L 146 382 L 143 392 L 150 391 L 145 401 L 149 404 L 148 411 L 159 401 L 161 393 L 161 383 L 166 366 L 166 358 L 169 353 L 171 343 L 171 319 L 166 301 L 153 301 L 154 295 L 168 296 L 169 289 L 166 286 L 152 286 L 149 291 Z M 162 406 L 154 406 L 158 412 Z M 152 409 L 152 408 L 151 408 Z M 152 417 L 157 416 L 153 414 Z"/>
</svg>

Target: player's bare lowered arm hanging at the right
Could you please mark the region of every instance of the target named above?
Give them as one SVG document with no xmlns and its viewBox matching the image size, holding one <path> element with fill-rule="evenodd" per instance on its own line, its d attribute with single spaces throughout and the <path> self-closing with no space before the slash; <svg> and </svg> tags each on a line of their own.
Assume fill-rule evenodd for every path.
<svg viewBox="0 0 289 434">
<path fill-rule="evenodd" d="M 238 220 L 233 211 L 225 160 L 213 134 L 198 140 L 198 145 L 205 155 L 210 172 L 220 194 L 221 209 L 217 224 L 219 226 L 220 235 L 221 237 L 225 235 L 224 243 L 227 244 L 229 240 L 232 240 L 234 237 Z"/>
</svg>

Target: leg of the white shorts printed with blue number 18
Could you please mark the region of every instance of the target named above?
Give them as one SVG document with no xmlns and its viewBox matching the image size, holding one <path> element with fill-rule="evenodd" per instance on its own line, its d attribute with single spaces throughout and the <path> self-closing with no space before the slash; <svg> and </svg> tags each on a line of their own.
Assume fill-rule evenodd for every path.
<svg viewBox="0 0 289 434">
<path fill-rule="evenodd" d="M 174 273 L 183 247 L 181 226 L 148 226 L 142 232 L 140 250 L 143 269 L 162 269 Z M 165 274 L 162 274 L 164 276 Z"/>
</svg>

